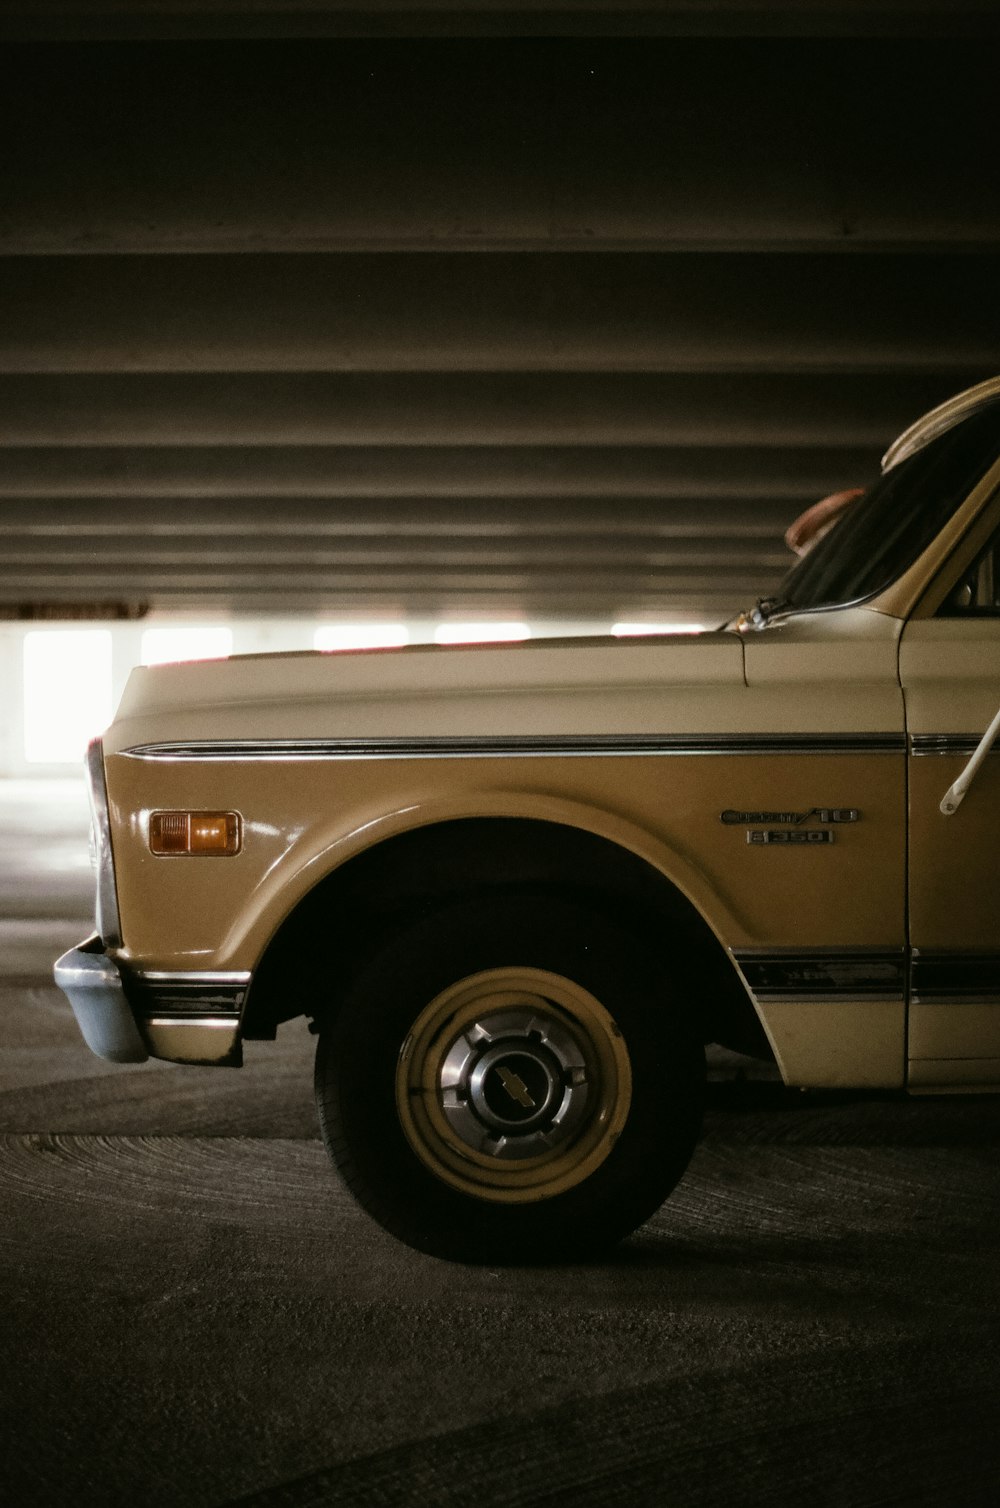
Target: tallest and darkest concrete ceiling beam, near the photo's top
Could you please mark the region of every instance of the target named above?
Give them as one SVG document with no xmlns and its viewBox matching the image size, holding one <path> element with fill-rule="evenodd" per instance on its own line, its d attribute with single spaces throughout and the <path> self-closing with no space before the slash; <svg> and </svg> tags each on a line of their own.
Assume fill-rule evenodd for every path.
<svg viewBox="0 0 1000 1508">
<path fill-rule="evenodd" d="M 0 252 L 997 249 L 995 77 L 955 38 L 12 45 Z"/>
</svg>

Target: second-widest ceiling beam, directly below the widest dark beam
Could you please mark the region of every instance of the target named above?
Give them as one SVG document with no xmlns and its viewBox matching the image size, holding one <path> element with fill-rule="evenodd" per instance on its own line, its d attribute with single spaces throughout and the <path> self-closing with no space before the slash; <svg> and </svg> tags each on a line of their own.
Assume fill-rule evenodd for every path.
<svg viewBox="0 0 1000 1508">
<path fill-rule="evenodd" d="M 944 372 L 995 365 L 998 285 L 1000 252 L 17 256 L 0 372 Z"/>
</svg>

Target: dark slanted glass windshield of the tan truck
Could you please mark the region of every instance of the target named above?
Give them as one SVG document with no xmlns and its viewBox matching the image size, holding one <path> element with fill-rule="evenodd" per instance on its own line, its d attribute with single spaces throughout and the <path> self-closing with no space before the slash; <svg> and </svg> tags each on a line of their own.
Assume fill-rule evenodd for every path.
<svg viewBox="0 0 1000 1508">
<path fill-rule="evenodd" d="M 1000 404 L 971 413 L 893 466 L 781 582 L 774 611 L 840 608 L 913 566 L 1000 454 Z"/>
</svg>

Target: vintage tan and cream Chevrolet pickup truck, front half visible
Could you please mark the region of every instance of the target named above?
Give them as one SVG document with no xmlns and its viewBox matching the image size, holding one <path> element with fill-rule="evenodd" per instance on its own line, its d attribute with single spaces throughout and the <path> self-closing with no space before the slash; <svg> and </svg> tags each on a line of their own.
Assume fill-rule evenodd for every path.
<svg viewBox="0 0 1000 1508">
<path fill-rule="evenodd" d="M 704 1045 L 1000 1089 L 1000 379 L 719 632 L 136 670 L 89 751 L 95 1053 L 306 1015 L 403 1241 L 581 1255 L 680 1178 Z"/>
</svg>

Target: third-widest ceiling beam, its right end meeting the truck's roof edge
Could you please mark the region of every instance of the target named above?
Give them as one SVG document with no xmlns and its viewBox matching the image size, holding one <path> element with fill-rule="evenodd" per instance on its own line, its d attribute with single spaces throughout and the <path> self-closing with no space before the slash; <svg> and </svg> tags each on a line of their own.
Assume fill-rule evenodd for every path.
<svg viewBox="0 0 1000 1508">
<path fill-rule="evenodd" d="M 0 445 L 872 446 L 992 375 L 0 377 Z"/>
</svg>

